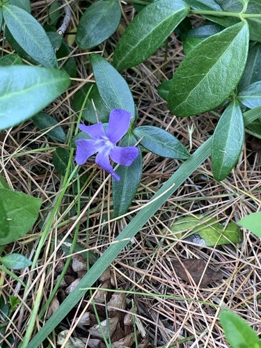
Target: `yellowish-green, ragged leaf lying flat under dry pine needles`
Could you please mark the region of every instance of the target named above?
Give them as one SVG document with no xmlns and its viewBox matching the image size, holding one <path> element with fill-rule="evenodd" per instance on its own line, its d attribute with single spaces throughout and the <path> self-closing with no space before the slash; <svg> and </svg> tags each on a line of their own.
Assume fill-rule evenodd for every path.
<svg viewBox="0 0 261 348">
<path fill-rule="evenodd" d="M 224 228 L 215 218 L 209 219 L 209 216 L 186 216 L 171 226 L 171 231 L 176 236 L 188 230 L 191 235 L 200 235 L 207 246 L 237 244 L 243 239 L 243 234 L 235 222 L 230 221 Z"/>
</svg>

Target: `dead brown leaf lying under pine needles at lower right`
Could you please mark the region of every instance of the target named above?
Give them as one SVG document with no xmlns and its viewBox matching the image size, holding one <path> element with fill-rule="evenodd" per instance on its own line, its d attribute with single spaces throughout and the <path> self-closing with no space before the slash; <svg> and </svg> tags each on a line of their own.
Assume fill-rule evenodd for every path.
<svg viewBox="0 0 261 348">
<path fill-rule="evenodd" d="M 177 276 L 180 276 L 180 278 L 188 283 L 191 283 L 189 274 L 196 285 L 198 285 L 204 272 L 200 287 L 206 287 L 209 283 L 223 278 L 223 273 L 221 271 L 214 271 L 214 269 L 209 266 L 206 268 L 207 262 L 203 259 L 187 259 L 181 261 L 182 263 L 178 260 L 171 261 L 171 263 L 173 264 Z"/>
</svg>

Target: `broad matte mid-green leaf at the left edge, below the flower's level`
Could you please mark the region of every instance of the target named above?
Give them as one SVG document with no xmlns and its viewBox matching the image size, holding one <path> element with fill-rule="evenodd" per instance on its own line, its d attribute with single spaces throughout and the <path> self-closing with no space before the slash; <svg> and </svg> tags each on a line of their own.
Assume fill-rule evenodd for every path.
<svg viewBox="0 0 261 348">
<path fill-rule="evenodd" d="M 42 200 L 26 195 L 22 192 L 14 192 L 10 189 L 0 189 L 0 221 L 7 221 L 8 235 L 0 230 L 0 245 L 15 242 L 23 237 L 32 228 L 38 218 L 38 212 Z M 5 222 L 6 222 L 5 221 Z"/>
</svg>

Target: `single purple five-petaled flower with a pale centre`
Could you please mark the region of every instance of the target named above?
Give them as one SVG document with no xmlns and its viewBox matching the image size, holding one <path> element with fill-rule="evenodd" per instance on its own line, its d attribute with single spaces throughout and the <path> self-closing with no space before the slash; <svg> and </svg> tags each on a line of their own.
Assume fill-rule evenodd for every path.
<svg viewBox="0 0 261 348">
<path fill-rule="evenodd" d="M 102 122 L 92 126 L 79 125 L 79 129 L 93 139 L 79 139 L 75 142 L 77 164 L 84 164 L 90 156 L 97 152 L 96 164 L 109 172 L 115 180 L 120 180 L 119 175 L 113 171 L 109 157 L 122 166 L 130 166 L 138 156 L 139 150 L 135 146 L 126 148 L 116 146 L 116 143 L 127 133 L 131 116 L 131 113 L 125 110 L 111 110 L 106 132 L 102 127 Z"/>
</svg>

